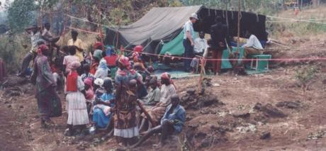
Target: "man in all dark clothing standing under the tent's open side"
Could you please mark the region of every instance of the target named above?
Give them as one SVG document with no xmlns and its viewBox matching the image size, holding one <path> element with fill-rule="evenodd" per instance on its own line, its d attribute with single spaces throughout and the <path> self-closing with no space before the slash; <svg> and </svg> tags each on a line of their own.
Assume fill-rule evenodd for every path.
<svg viewBox="0 0 326 151">
<path fill-rule="evenodd" d="M 215 25 L 210 27 L 211 45 L 210 49 L 213 50 L 213 72 L 219 74 L 222 63 L 223 50 L 230 46 L 230 39 L 227 35 L 227 26 L 222 23 L 220 16 L 215 18 Z M 226 41 L 226 43 L 225 43 Z"/>
</svg>

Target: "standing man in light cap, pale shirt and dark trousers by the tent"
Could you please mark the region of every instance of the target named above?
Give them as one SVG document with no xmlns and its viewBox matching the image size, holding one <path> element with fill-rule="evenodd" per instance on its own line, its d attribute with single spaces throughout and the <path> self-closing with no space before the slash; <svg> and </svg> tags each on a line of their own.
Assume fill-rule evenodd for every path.
<svg viewBox="0 0 326 151">
<path fill-rule="evenodd" d="M 193 42 L 193 38 L 195 38 L 195 30 L 193 30 L 193 23 L 198 21 L 198 16 L 196 13 L 192 13 L 189 17 L 189 21 L 184 23 L 184 57 L 193 57 L 193 46 L 195 43 Z M 184 59 L 184 69 L 186 72 L 191 72 L 190 67 L 191 60 Z"/>
</svg>

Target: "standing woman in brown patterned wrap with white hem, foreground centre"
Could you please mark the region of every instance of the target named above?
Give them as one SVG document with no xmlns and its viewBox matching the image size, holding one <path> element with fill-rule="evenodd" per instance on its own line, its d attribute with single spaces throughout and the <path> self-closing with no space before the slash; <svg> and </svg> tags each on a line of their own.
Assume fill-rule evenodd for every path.
<svg viewBox="0 0 326 151">
<path fill-rule="evenodd" d="M 131 145 L 139 135 L 138 112 L 136 108 L 137 74 L 130 70 L 128 57 L 118 60 L 116 75 L 116 104 L 114 114 L 114 135 L 123 145 Z"/>
</svg>

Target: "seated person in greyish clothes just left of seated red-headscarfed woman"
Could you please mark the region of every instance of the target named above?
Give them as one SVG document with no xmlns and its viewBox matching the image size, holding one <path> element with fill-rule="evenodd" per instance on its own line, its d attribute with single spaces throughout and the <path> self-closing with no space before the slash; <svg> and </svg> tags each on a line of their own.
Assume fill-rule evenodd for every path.
<svg viewBox="0 0 326 151">
<path fill-rule="evenodd" d="M 140 99 L 140 102 L 145 106 L 154 106 L 159 102 L 159 99 L 161 99 L 161 92 L 157 86 L 157 79 L 152 78 L 149 83 L 151 89 L 144 99 Z"/>
</svg>

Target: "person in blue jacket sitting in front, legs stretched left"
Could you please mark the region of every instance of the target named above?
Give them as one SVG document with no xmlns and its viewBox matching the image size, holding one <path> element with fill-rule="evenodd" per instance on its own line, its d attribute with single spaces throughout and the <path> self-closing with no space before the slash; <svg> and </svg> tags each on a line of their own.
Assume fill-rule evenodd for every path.
<svg viewBox="0 0 326 151">
<path fill-rule="evenodd" d="M 167 110 L 161 119 L 161 125 L 158 125 L 145 133 L 145 135 L 140 138 L 140 140 L 135 145 L 133 145 L 132 148 L 142 144 L 142 142 L 150 138 L 154 133 L 162 133 L 157 147 L 162 147 L 162 145 L 164 145 L 164 141 L 167 139 L 168 135 L 181 133 L 182 126 L 186 120 L 186 111 L 179 104 L 179 102 L 179 95 L 173 94 L 171 96 L 171 105 L 167 106 Z"/>
</svg>

